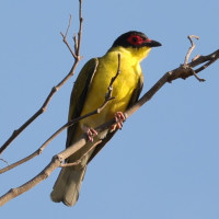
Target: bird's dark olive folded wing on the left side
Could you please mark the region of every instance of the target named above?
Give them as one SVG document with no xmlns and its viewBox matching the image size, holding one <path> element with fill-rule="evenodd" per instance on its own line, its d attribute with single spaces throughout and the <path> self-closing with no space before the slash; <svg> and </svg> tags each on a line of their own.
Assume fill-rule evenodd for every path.
<svg viewBox="0 0 219 219">
<path fill-rule="evenodd" d="M 88 90 L 96 72 L 97 65 L 99 59 L 93 58 L 89 60 L 81 69 L 81 72 L 79 73 L 71 92 L 68 120 L 77 118 L 81 115 Z M 77 125 L 70 126 L 68 128 L 66 147 L 69 147 L 72 143 L 76 129 Z"/>
</svg>

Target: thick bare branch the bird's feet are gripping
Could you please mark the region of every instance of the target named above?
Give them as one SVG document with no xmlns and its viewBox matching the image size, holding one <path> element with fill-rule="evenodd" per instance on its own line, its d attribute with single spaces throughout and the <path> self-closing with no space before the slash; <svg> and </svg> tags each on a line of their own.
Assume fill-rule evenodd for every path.
<svg viewBox="0 0 219 219">
<path fill-rule="evenodd" d="M 194 76 L 191 68 L 195 68 L 198 65 L 203 65 L 196 70 L 193 69 L 196 73 L 198 73 L 203 71 L 204 69 L 206 69 L 211 64 L 214 64 L 218 58 L 219 58 L 219 49 L 214 51 L 210 55 L 199 56 L 196 59 L 193 59 L 189 64 L 187 64 L 189 68 L 184 68 L 184 66 L 182 65 L 172 71 L 168 71 L 134 106 L 131 106 L 125 112 L 126 117 L 128 118 L 132 113 L 135 113 L 145 103 L 147 103 L 166 82 L 172 82 L 173 80 L 176 80 L 180 78 L 186 79 L 191 76 Z M 115 119 L 112 119 L 96 127 L 95 130 L 101 132 L 103 130 L 108 129 L 114 124 L 115 124 Z M 37 185 L 39 182 L 48 177 L 56 168 L 62 165 L 62 161 L 65 159 L 69 158 L 70 155 L 76 153 L 78 150 L 80 150 L 85 145 L 85 142 L 87 142 L 87 137 L 85 135 L 82 135 L 81 138 L 77 142 L 74 142 L 73 145 L 68 147 L 66 150 L 55 155 L 51 162 L 38 175 L 36 175 L 34 178 L 23 184 L 22 186 L 10 189 L 2 197 L 0 197 L 0 206 L 4 205 L 10 199 L 27 192 L 28 189 Z"/>
</svg>

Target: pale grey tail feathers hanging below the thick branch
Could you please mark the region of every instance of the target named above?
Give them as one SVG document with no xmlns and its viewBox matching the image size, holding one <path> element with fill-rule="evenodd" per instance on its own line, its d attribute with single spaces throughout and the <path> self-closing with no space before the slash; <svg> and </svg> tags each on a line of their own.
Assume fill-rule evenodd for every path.
<svg viewBox="0 0 219 219">
<path fill-rule="evenodd" d="M 62 168 L 50 194 L 55 203 L 62 201 L 67 206 L 73 206 L 78 198 L 85 174 L 87 165 L 83 168 Z"/>
</svg>

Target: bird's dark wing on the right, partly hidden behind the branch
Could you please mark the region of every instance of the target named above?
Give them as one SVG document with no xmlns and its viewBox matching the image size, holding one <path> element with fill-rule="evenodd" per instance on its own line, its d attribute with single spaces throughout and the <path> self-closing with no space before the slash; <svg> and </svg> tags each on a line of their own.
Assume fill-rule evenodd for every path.
<svg viewBox="0 0 219 219">
<path fill-rule="evenodd" d="M 132 92 L 132 95 L 130 97 L 127 108 L 131 107 L 138 101 L 138 97 L 141 93 L 142 88 L 143 88 L 143 74 L 141 74 L 139 78 L 138 84 Z M 111 138 L 116 134 L 116 131 L 108 132 L 106 137 L 102 140 L 102 142 L 95 147 L 93 153 L 91 154 L 89 159 L 89 162 L 101 151 L 101 149 L 107 143 L 107 141 L 111 140 Z"/>
</svg>

